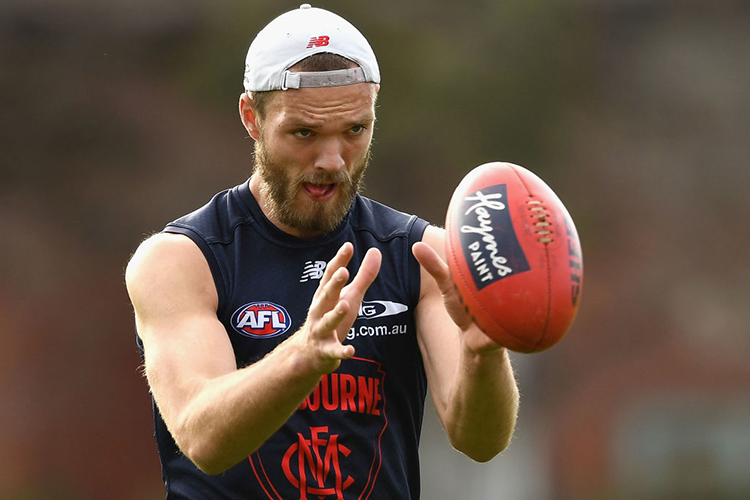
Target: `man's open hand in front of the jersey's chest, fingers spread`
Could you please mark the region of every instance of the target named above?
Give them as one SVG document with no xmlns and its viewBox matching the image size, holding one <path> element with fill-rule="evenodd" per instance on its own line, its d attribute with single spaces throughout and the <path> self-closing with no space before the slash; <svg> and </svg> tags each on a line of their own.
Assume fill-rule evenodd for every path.
<svg viewBox="0 0 750 500">
<path fill-rule="evenodd" d="M 346 265 L 354 254 L 351 243 L 344 243 L 326 266 L 318 289 L 313 295 L 307 321 L 300 332 L 317 354 L 321 372 L 330 373 L 341 360 L 354 355 L 354 346 L 342 342 L 354 324 L 365 292 L 380 271 L 382 256 L 371 248 L 365 254 L 359 271 L 348 285 Z"/>
</svg>

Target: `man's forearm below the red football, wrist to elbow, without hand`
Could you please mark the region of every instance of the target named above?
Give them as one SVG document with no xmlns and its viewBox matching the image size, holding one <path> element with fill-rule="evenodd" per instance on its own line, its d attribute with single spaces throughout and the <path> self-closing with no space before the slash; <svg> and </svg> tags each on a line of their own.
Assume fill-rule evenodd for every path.
<svg viewBox="0 0 750 500">
<path fill-rule="evenodd" d="M 453 446 L 474 460 L 492 459 L 510 443 L 518 400 L 507 350 L 476 354 L 462 343 L 444 418 Z"/>
</svg>

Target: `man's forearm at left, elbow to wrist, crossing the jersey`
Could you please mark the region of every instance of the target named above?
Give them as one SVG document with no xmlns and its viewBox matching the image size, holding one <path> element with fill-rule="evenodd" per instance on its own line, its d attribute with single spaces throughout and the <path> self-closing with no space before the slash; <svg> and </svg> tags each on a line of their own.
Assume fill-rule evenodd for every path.
<svg viewBox="0 0 750 500">
<path fill-rule="evenodd" d="M 323 372 L 297 340 L 290 338 L 253 365 L 197 384 L 170 415 L 175 441 L 201 470 L 217 474 L 245 459 L 319 383 Z"/>
</svg>

